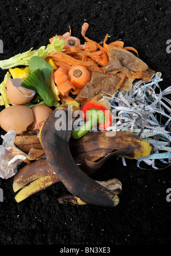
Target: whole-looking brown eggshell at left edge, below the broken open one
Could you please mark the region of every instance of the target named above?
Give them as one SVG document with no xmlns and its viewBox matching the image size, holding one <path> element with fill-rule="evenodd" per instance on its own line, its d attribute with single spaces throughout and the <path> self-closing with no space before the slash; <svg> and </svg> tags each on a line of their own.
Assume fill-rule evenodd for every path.
<svg viewBox="0 0 171 256">
<path fill-rule="evenodd" d="M 16 134 L 22 134 L 34 121 L 32 109 L 22 105 L 6 107 L 0 113 L 0 125 L 3 130 L 15 130 Z"/>
</svg>

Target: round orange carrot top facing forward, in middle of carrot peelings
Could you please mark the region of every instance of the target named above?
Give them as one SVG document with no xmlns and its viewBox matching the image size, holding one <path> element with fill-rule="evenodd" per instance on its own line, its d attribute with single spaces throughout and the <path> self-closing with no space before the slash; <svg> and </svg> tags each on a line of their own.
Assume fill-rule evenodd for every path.
<svg viewBox="0 0 171 256">
<path fill-rule="evenodd" d="M 68 72 L 68 76 L 75 88 L 83 88 L 91 78 L 91 75 L 86 67 L 81 65 L 71 67 L 70 71 Z"/>
</svg>

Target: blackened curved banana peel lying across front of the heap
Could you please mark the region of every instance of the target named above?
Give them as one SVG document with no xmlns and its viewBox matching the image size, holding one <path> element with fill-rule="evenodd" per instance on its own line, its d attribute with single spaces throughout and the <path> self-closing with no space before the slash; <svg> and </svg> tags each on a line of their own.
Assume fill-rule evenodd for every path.
<svg viewBox="0 0 171 256">
<path fill-rule="evenodd" d="M 60 181 L 75 197 L 92 205 L 116 206 L 119 203 L 119 197 L 88 177 L 76 165 L 72 157 L 69 145 L 71 129 L 68 129 L 68 125 L 71 127 L 71 123 L 68 123 L 68 113 L 71 111 L 70 113 L 72 114 L 79 108 L 77 101 L 64 103 L 57 107 L 44 122 L 39 138 L 46 154 L 47 162 L 53 167 Z M 60 118 L 57 117 L 57 111 L 59 110 L 63 110 L 66 113 L 66 130 L 55 129 L 55 122 Z M 74 119 L 72 119 L 73 121 Z"/>
</svg>

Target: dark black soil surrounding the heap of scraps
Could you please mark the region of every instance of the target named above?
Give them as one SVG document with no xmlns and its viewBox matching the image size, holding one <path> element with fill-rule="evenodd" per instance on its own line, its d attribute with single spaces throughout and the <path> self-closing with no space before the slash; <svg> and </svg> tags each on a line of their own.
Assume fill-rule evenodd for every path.
<svg viewBox="0 0 171 256">
<path fill-rule="evenodd" d="M 87 37 L 107 43 L 122 39 L 133 46 L 148 66 L 162 73 L 162 89 L 170 86 L 171 2 L 46 0 L 0 2 L 1 59 L 38 49 L 55 34 L 71 26 L 72 35 L 81 36 L 89 23 Z M 6 70 L 0 70 L 1 81 Z M 3 131 L 1 130 L 1 134 Z M 13 178 L 0 179 L 4 201 L 0 203 L 1 245 L 166 245 L 171 242 L 170 167 L 141 170 L 136 161 L 110 159 L 93 176 L 99 180 L 118 178 L 123 184 L 120 203 L 114 208 L 93 205 L 61 205 L 58 198 L 68 194 L 56 183 L 21 203 L 15 202 Z"/>
</svg>

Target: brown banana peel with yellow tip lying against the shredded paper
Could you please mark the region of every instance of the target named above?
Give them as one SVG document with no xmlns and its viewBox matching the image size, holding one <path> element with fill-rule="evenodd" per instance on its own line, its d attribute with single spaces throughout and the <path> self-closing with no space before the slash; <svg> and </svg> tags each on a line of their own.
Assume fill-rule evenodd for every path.
<svg viewBox="0 0 171 256">
<path fill-rule="evenodd" d="M 131 131 L 108 131 L 71 138 L 70 149 L 80 168 L 93 174 L 111 157 L 144 158 L 152 154 L 154 147 Z"/>
</svg>

